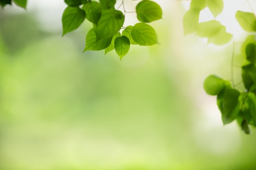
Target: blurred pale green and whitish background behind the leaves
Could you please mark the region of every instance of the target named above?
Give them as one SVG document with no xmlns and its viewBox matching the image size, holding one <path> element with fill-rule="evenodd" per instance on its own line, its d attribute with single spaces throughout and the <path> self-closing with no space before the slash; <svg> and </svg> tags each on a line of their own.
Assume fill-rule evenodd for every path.
<svg viewBox="0 0 256 170">
<path fill-rule="evenodd" d="M 82 53 L 88 22 L 61 38 L 1 9 L 0 169 L 254 170 L 255 130 L 223 126 L 202 89 L 209 74 L 230 79 L 232 47 L 184 38 L 171 4 L 152 24 L 161 46 L 131 46 L 121 62 Z"/>
</svg>

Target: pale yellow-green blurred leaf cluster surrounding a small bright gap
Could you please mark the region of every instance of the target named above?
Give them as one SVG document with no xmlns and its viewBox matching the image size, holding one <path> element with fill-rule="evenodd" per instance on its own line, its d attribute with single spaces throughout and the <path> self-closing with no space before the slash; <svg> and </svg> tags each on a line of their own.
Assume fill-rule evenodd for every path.
<svg viewBox="0 0 256 170">
<path fill-rule="evenodd" d="M 223 10 L 223 0 L 191 0 L 190 9 L 183 18 L 184 35 L 195 33 L 207 38 L 208 43 L 223 45 L 230 42 L 232 35 L 227 33 L 226 27 L 217 20 L 199 22 L 200 11 L 209 8 L 216 18 Z"/>
</svg>

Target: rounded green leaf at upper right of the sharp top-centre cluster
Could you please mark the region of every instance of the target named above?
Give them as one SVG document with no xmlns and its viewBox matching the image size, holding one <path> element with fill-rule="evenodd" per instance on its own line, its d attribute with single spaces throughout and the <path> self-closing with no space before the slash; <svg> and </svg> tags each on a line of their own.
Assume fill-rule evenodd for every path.
<svg viewBox="0 0 256 170">
<path fill-rule="evenodd" d="M 142 0 L 136 6 L 137 18 L 141 22 L 152 22 L 162 19 L 162 8 L 150 0 Z"/>
</svg>

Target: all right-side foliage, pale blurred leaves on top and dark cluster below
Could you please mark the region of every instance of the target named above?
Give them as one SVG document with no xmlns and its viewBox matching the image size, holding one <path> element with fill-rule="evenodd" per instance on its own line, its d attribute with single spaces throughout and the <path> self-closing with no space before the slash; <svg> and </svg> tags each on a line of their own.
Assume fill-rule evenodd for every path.
<svg viewBox="0 0 256 170">
<path fill-rule="evenodd" d="M 215 45 L 227 44 L 233 35 L 227 33 L 226 27 L 219 21 L 199 22 L 200 11 L 206 7 L 216 18 L 222 12 L 223 0 L 191 0 L 190 9 L 183 18 L 184 34 L 195 33 L 199 37 L 208 38 L 208 43 Z M 243 30 L 256 32 L 254 13 L 237 11 L 235 18 Z M 222 114 L 223 124 L 237 120 L 242 130 L 249 134 L 248 125 L 256 126 L 256 40 L 254 35 L 249 35 L 243 42 L 241 55 L 246 63 L 241 67 L 244 91 L 238 91 L 234 84 L 231 85 L 229 81 L 216 75 L 209 75 L 204 80 L 204 90 L 209 95 L 217 96 L 217 105 Z"/>
</svg>

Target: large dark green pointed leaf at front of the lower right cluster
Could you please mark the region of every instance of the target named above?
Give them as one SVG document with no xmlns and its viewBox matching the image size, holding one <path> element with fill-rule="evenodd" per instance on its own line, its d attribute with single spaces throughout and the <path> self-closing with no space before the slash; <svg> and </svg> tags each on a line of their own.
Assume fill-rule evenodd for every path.
<svg viewBox="0 0 256 170">
<path fill-rule="evenodd" d="M 238 97 L 240 93 L 236 89 L 227 89 L 222 102 L 222 122 L 228 124 L 236 119 L 240 112 Z"/>
</svg>

